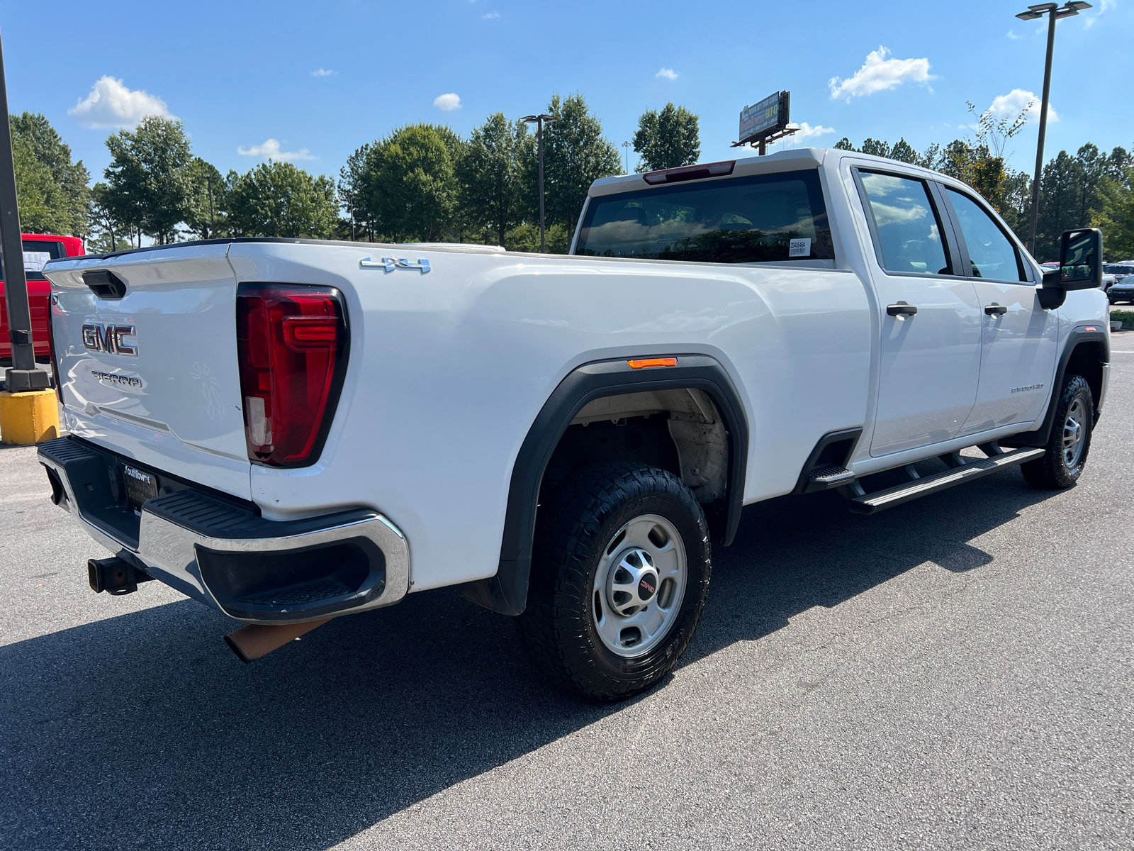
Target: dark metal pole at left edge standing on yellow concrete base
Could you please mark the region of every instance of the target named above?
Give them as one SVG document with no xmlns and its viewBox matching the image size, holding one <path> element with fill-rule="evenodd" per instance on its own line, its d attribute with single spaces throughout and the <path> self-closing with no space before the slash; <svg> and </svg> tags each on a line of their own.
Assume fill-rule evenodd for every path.
<svg viewBox="0 0 1134 851">
<path fill-rule="evenodd" d="M 8 335 L 11 369 L 5 376 L 8 389 L 37 390 L 48 386 L 48 373 L 35 368 L 32 344 L 32 312 L 27 305 L 24 242 L 16 201 L 16 166 L 11 154 L 11 124 L 8 120 L 8 83 L 0 47 L 0 253 L 3 258 L 3 292 L 8 302 Z"/>
</svg>

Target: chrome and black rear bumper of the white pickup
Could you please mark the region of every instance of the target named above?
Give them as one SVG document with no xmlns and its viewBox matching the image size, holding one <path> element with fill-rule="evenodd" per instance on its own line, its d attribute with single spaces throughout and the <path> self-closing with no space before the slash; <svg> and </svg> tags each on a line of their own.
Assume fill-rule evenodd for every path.
<svg viewBox="0 0 1134 851">
<path fill-rule="evenodd" d="M 138 513 L 118 456 L 75 438 L 42 444 L 52 502 L 111 553 L 246 623 L 299 623 L 400 600 L 409 546 L 388 519 L 355 509 L 271 521 L 251 506 L 172 482 Z M 133 462 L 130 462 L 133 463 Z"/>
</svg>

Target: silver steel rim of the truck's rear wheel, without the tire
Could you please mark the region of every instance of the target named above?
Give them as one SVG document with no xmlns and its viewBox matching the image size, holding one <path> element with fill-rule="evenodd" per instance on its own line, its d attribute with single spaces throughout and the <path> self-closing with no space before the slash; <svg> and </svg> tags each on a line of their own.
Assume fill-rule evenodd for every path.
<svg viewBox="0 0 1134 851">
<path fill-rule="evenodd" d="M 618 656 L 642 656 L 674 625 L 685 598 L 688 563 L 677 529 L 643 514 L 611 537 L 594 573 L 595 631 Z"/>
</svg>

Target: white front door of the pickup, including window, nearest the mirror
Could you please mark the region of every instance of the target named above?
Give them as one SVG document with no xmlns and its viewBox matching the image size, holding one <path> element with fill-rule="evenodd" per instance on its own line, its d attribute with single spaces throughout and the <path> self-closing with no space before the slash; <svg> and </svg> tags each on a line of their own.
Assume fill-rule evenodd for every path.
<svg viewBox="0 0 1134 851">
<path fill-rule="evenodd" d="M 1058 318 L 1040 306 L 1019 248 L 971 195 L 947 188 L 981 305 L 981 379 L 963 435 L 1033 422 L 1051 395 Z"/>
</svg>

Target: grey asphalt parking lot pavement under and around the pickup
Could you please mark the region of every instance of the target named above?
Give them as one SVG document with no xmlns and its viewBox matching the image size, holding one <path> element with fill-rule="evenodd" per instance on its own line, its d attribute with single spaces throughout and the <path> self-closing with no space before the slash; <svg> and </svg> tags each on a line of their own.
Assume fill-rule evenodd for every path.
<svg viewBox="0 0 1134 851">
<path fill-rule="evenodd" d="M 596 706 L 452 590 L 243 665 L 0 448 L 0 848 L 1129 849 L 1134 332 L 1081 483 L 745 509 L 676 672 Z M 937 463 L 937 462 L 931 462 Z"/>
</svg>

